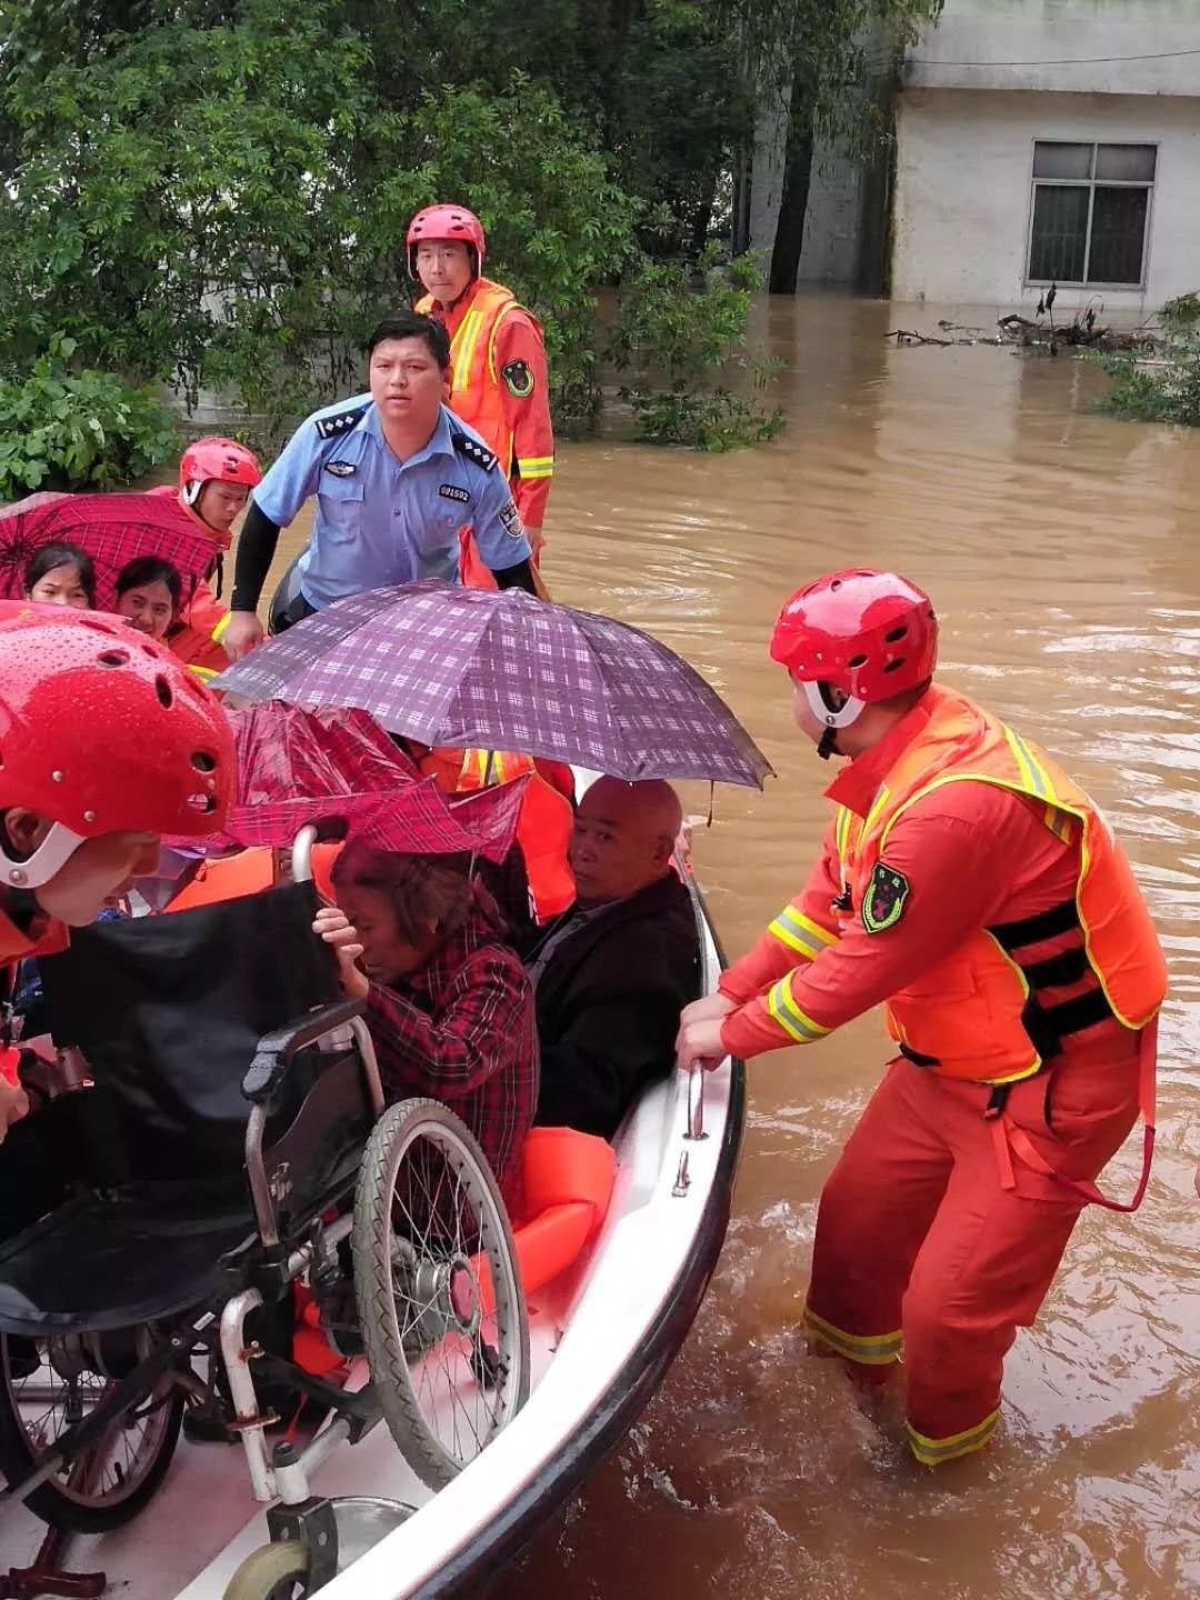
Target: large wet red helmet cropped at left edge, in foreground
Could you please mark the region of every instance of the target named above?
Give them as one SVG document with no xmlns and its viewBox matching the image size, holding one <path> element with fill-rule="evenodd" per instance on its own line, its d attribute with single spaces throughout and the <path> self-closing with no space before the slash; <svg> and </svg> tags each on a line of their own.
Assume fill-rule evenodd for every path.
<svg viewBox="0 0 1200 1600">
<path fill-rule="evenodd" d="M 202 838 L 224 826 L 234 736 L 219 701 L 162 645 L 115 618 L 64 606 L 0 608 L 0 811 L 54 826 L 0 874 L 50 882 L 86 838 Z"/>
</svg>

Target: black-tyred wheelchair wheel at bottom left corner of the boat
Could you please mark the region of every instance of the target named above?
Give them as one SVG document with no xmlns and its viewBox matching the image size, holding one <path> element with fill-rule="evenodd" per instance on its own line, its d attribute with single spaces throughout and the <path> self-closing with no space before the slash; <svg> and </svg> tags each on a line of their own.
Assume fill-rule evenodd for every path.
<svg viewBox="0 0 1200 1600">
<path fill-rule="evenodd" d="M 26 1386 L 35 1381 L 45 1382 L 42 1374 L 48 1373 L 50 1368 L 45 1362 L 38 1362 L 37 1371 L 18 1376 L 14 1376 L 14 1368 L 16 1362 L 10 1357 L 10 1341 L 0 1334 L 0 1475 L 10 1485 L 27 1477 L 40 1450 L 54 1443 L 56 1435 L 48 1432 L 46 1424 L 53 1424 L 58 1410 L 51 1402 L 50 1410 L 30 1424 L 27 1416 L 22 1416 L 22 1410 L 30 1410 L 29 1403 L 22 1405 Z M 102 1379 L 98 1382 L 102 1384 Z M 42 1400 L 37 1402 L 37 1405 L 42 1403 Z M 72 1467 L 69 1466 L 62 1469 L 61 1475 L 38 1485 L 26 1496 L 24 1504 L 29 1510 L 42 1522 L 50 1523 L 51 1528 L 67 1528 L 70 1533 L 109 1533 L 144 1510 L 158 1493 L 179 1442 L 184 1419 L 182 1389 L 174 1384 L 170 1389 L 163 1386 L 139 1410 L 149 1422 L 142 1434 L 142 1443 L 136 1446 L 136 1454 L 126 1453 L 123 1462 L 117 1459 L 112 1464 L 112 1480 L 107 1485 L 96 1490 L 88 1485 L 72 1485 Z M 38 1440 L 30 1437 L 30 1426 L 38 1429 Z M 120 1435 L 125 1434 L 128 1434 L 128 1427 L 120 1429 Z M 115 1443 L 117 1438 L 114 1426 L 106 1435 L 106 1442 Z M 96 1451 L 91 1456 L 94 1462 Z"/>
</svg>

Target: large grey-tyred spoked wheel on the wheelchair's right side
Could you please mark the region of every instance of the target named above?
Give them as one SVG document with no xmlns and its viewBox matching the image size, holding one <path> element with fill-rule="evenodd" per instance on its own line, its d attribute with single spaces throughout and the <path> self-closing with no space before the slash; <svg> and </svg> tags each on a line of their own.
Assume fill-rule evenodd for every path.
<svg viewBox="0 0 1200 1600">
<path fill-rule="evenodd" d="M 530 1318 L 496 1179 L 437 1101 L 374 1125 L 354 1203 L 354 1280 L 387 1427 L 442 1488 L 530 1394 Z"/>
</svg>

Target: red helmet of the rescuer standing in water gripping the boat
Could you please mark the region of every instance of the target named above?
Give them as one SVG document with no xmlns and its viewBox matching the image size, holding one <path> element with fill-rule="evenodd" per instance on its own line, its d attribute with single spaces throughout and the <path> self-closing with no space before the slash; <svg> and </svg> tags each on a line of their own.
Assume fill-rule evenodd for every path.
<svg viewBox="0 0 1200 1600">
<path fill-rule="evenodd" d="M 829 726 L 846 726 L 862 706 L 890 699 L 933 677 L 938 619 L 923 589 L 898 573 L 854 568 L 798 589 L 779 613 L 771 659 L 795 683 L 824 685 L 845 707 L 821 696 L 813 709 Z M 851 715 L 845 715 L 850 706 Z M 837 720 L 835 720 L 837 718 Z"/>
</svg>

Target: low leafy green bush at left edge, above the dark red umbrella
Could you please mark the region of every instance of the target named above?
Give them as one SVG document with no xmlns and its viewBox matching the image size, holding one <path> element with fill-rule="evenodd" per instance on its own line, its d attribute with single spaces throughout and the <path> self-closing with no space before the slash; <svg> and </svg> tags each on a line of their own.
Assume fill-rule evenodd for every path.
<svg viewBox="0 0 1200 1600">
<path fill-rule="evenodd" d="M 72 373 L 72 339 L 24 373 L 0 376 L 0 501 L 32 490 L 106 490 L 178 450 L 171 411 L 114 373 Z"/>
</svg>

